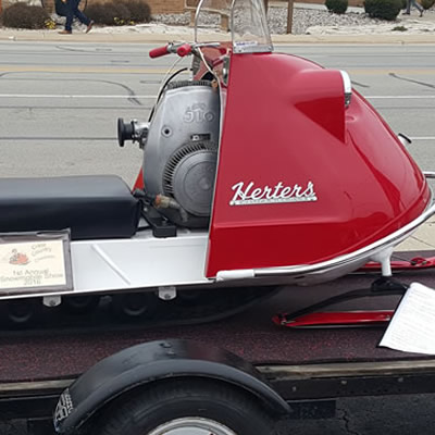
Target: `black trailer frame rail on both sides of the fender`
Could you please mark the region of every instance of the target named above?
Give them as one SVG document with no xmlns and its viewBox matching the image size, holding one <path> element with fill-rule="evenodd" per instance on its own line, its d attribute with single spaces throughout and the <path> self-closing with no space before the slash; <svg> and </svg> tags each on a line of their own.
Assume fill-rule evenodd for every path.
<svg viewBox="0 0 435 435">
<path fill-rule="evenodd" d="M 225 355 L 228 353 L 223 351 L 222 356 Z M 172 375 L 177 370 L 177 359 L 173 361 Z M 229 368 L 237 365 L 234 361 L 226 362 L 229 362 Z M 272 401 L 275 401 L 271 405 L 271 411 L 290 419 L 334 417 L 335 400 L 338 398 L 435 393 L 435 359 L 427 358 L 298 365 L 262 364 L 254 369 L 263 376 L 268 387 L 276 393 L 277 397 L 271 396 Z M 75 381 L 69 378 L 0 384 L 0 421 L 25 419 L 29 435 L 54 434 L 53 410 L 61 393 L 69 390 Z M 244 381 L 240 378 L 239 382 L 241 385 Z M 279 398 L 289 405 L 289 413 L 279 405 Z"/>
</svg>

